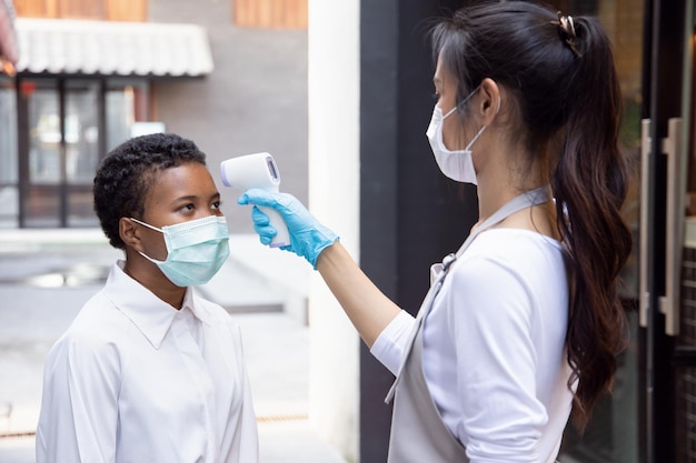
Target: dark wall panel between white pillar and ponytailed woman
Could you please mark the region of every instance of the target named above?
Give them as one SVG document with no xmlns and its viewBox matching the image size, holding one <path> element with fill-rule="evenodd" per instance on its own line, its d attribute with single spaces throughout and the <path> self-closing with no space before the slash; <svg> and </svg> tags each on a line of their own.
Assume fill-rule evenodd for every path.
<svg viewBox="0 0 696 463">
<path fill-rule="evenodd" d="M 435 104 L 431 21 L 461 2 L 365 0 L 360 26 L 360 263 L 415 313 L 429 265 L 464 242 L 477 217 L 473 188 L 438 170 L 425 131 Z M 394 376 L 362 346 L 360 462 L 387 457 Z"/>
</svg>

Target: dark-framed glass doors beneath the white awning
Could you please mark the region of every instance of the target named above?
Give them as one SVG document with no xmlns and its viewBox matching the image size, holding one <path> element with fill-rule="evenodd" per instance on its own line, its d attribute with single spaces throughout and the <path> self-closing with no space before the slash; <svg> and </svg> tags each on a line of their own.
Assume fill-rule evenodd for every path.
<svg viewBox="0 0 696 463">
<path fill-rule="evenodd" d="M 96 80 L 21 79 L 20 227 L 96 227 L 91 183 L 103 120 Z"/>
</svg>

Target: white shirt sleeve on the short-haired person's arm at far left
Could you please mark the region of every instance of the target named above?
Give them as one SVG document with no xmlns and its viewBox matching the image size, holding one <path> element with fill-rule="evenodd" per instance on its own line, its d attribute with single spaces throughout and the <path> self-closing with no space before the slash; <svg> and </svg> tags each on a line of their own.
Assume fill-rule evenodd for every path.
<svg viewBox="0 0 696 463">
<path fill-rule="evenodd" d="M 99 351 L 69 338 L 51 350 L 37 427 L 37 463 L 115 461 L 118 366 L 115 356 Z"/>
</svg>

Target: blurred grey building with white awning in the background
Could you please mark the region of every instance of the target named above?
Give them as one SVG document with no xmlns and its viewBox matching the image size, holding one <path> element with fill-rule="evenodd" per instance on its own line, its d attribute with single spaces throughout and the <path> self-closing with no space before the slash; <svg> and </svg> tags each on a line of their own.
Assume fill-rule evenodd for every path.
<svg viewBox="0 0 696 463">
<path fill-rule="evenodd" d="M 306 199 L 307 0 L 14 7 L 18 58 L 0 77 L 0 228 L 97 227 L 97 164 L 148 131 L 195 140 L 215 172 L 270 151 Z"/>
</svg>

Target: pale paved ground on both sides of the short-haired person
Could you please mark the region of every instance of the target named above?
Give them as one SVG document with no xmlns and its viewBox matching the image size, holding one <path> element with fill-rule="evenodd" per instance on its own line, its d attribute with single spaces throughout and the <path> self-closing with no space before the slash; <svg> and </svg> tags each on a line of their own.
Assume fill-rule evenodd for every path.
<svg viewBox="0 0 696 463">
<path fill-rule="evenodd" d="M 241 324 L 261 463 L 344 463 L 308 417 L 308 265 L 256 235 L 230 249 L 200 291 Z M 0 231 L 0 463 L 34 462 L 44 355 L 118 256 L 96 231 Z"/>
</svg>

